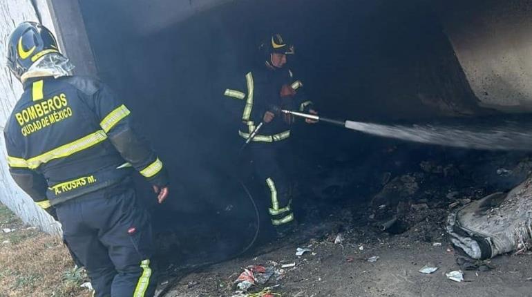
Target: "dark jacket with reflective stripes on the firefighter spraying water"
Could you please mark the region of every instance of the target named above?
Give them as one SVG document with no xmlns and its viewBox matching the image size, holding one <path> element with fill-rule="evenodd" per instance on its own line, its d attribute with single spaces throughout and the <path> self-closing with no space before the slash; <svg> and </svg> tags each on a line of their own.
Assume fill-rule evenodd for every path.
<svg viewBox="0 0 532 297">
<path fill-rule="evenodd" d="M 291 86 L 296 95 L 281 97 L 283 85 Z M 253 138 L 253 142 L 277 142 L 290 136 L 290 124 L 283 121 L 283 116 L 278 113 L 279 108 L 292 111 L 307 112 L 312 102 L 305 99 L 302 90 L 303 83 L 294 77 L 291 70 L 280 68 L 272 70 L 265 65 L 251 70 L 235 84 L 234 88 L 227 88 L 224 95 L 233 99 L 242 100 L 243 111 L 240 113 L 242 124 L 238 134 L 244 139 L 255 130 L 266 111 L 276 112 L 272 122 L 263 124 L 260 131 Z M 237 115 L 240 117 L 240 115 Z"/>
</svg>

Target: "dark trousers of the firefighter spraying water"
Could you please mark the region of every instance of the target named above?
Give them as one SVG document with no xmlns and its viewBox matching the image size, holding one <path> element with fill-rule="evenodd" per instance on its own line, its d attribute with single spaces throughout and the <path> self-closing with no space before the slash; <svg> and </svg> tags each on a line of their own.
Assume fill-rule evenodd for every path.
<svg viewBox="0 0 532 297">
<path fill-rule="evenodd" d="M 265 186 L 270 200 L 268 213 L 274 227 L 294 220 L 292 211 L 292 184 L 289 179 L 290 156 L 285 140 L 254 142 L 249 145 L 254 174 Z"/>
</svg>

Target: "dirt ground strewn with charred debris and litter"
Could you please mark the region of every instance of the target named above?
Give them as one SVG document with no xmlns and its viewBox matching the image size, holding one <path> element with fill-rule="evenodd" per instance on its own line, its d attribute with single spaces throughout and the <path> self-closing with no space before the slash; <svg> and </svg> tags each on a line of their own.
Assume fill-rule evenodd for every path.
<svg viewBox="0 0 532 297">
<path fill-rule="evenodd" d="M 403 160 L 400 153 L 379 153 L 367 165 L 341 160 L 342 166 L 307 171 L 312 176 L 301 179 L 319 186 L 307 194 L 316 199 L 302 206 L 307 209 L 306 220 L 296 233 L 257 247 L 247 256 L 193 273 L 176 271 L 178 278 L 167 283 L 172 289 L 164 296 L 532 296 L 532 253 L 461 267 L 458 262 L 464 254 L 453 248 L 445 231 L 451 211 L 512 189 L 530 175 L 532 159 L 492 153 L 459 157 L 409 153 L 419 155 L 417 161 L 408 160 L 414 166 L 376 165 L 378 160 Z M 386 172 L 387 168 L 391 170 Z M 357 180 L 360 176 L 370 178 Z M 379 230 L 380 222 L 394 217 L 398 218 L 394 228 Z M 344 240 L 335 244 L 339 233 Z M 298 247 L 312 251 L 299 257 Z M 368 262 L 373 256 L 378 260 Z M 236 294 L 234 281 L 245 267 L 274 266 L 279 272 L 281 265 L 292 262 L 295 267 L 275 274 L 265 285 L 251 287 L 248 295 Z M 421 274 L 425 265 L 438 269 Z M 446 277 L 457 270 L 464 272 L 463 282 Z M 273 287 L 274 294 L 250 294 L 264 287 Z"/>
</svg>

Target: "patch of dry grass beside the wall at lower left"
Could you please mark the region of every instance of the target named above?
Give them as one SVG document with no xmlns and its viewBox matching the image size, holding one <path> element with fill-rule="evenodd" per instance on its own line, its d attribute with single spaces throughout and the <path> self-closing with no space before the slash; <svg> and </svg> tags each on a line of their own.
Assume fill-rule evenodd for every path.
<svg viewBox="0 0 532 297">
<path fill-rule="evenodd" d="M 1 297 L 88 297 L 79 287 L 88 281 L 59 236 L 28 228 L 0 204 L 0 296 Z"/>
</svg>

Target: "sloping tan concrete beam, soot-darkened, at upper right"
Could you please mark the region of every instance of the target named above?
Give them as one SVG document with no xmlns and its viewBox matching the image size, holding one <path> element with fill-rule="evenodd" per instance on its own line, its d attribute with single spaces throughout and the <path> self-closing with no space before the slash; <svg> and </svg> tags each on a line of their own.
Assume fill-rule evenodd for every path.
<svg viewBox="0 0 532 297">
<path fill-rule="evenodd" d="M 451 0 L 437 10 L 482 105 L 532 111 L 532 2 Z"/>
</svg>

